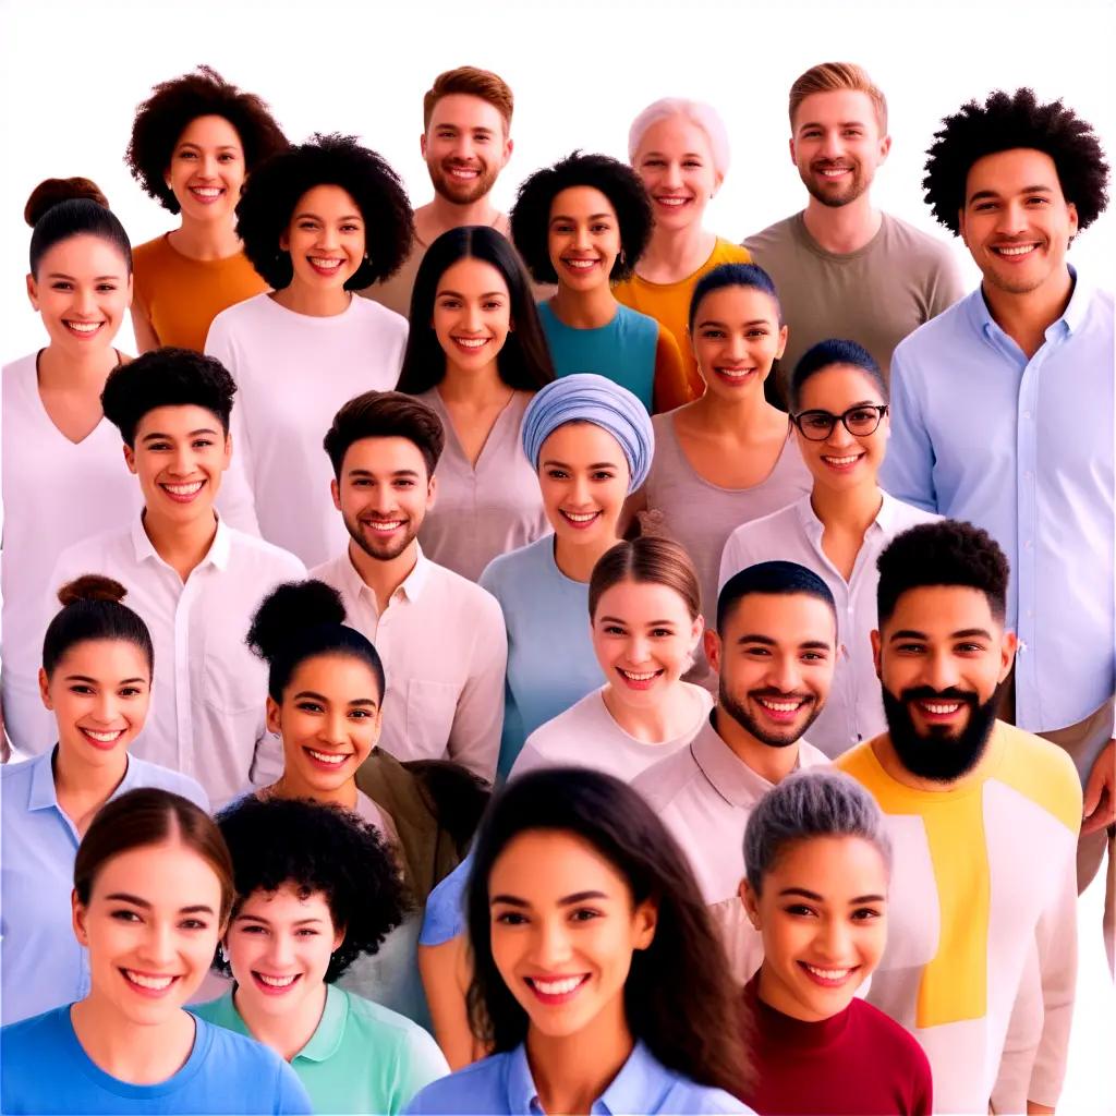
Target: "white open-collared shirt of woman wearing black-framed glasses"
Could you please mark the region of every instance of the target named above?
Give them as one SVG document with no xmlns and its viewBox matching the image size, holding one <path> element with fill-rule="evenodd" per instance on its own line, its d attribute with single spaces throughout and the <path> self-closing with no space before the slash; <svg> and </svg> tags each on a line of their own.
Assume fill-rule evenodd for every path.
<svg viewBox="0 0 1116 1116">
<path fill-rule="evenodd" d="M 841 654 L 829 698 L 810 725 L 810 742 L 830 758 L 887 728 L 869 637 L 877 626 L 876 559 L 896 535 L 934 519 L 941 517 L 885 492 L 879 513 L 864 533 L 848 581 L 821 549 L 824 528 L 808 496 L 775 514 L 738 527 L 724 546 L 720 586 L 739 570 L 776 560 L 798 562 L 829 586 L 837 604 L 837 642 Z"/>
</svg>

